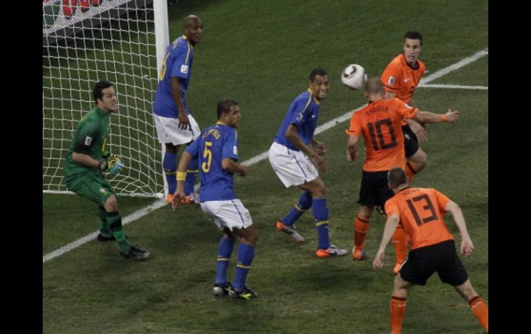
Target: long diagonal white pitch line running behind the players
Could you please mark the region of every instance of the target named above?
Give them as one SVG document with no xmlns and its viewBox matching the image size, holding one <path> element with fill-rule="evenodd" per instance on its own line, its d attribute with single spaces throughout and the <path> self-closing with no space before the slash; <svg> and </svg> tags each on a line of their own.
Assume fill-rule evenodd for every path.
<svg viewBox="0 0 531 334">
<path fill-rule="evenodd" d="M 453 65 L 445 67 L 442 70 L 439 70 L 437 72 L 434 72 L 433 74 L 430 74 L 429 76 L 427 76 L 427 77 L 425 77 L 424 79 L 421 80 L 421 83 L 419 84 L 419 87 L 423 87 L 423 85 L 425 85 L 427 83 L 430 83 L 431 81 L 434 81 L 435 79 L 439 79 L 441 76 L 445 76 L 446 74 L 448 74 L 450 72 L 453 72 L 453 71 L 463 67 L 464 65 L 468 65 L 469 63 L 477 61 L 482 56 L 486 56 L 486 55 L 488 55 L 488 48 L 485 49 L 485 50 L 481 50 L 481 51 L 479 51 L 479 52 L 477 52 L 475 54 L 472 54 L 472 56 L 468 56 L 465 59 L 461 59 L 461 61 L 458 61 L 457 63 L 454 63 Z M 354 110 L 359 110 L 362 107 L 363 107 L 363 105 L 357 107 L 357 109 L 354 109 Z M 330 129 L 331 127 L 334 127 L 334 126 L 338 125 L 339 123 L 343 123 L 344 121 L 347 121 L 350 118 L 351 115 L 352 115 L 352 110 L 347 112 L 347 113 L 345 113 L 345 114 L 343 114 L 342 116 L 339 116 L 337 118 L 332 119 L 332 121 L 328 121 L 328 122 L 324 123 L 323 125 L 320 125 L 319 127 L 317 127 L 317 129 L 315 129 L 315 134 L 321 134 L 321 132 L 325 132 L 326 130 Z M 268 157 L 268 151 L 265 151 L 265 152 L 259 154 L 258 156 L 254 156 L 253 158 L 250 158 L 249 160 L 243 161 L 242 165 L 247 165 L 247 166 L 254 165 L 255 163 L 259 163 L 261 160 L 264 160 L 267 157 Z M 156 200 L 155 202 L 153 202 L 148 207 L 145 207 L 145 208 L 140 209 L 138 211 L 134 211 L 129 216 L 126 216 L 125 218 L 123 218 L 122 224 L 123 225 L 129 224 L 130 222 L 133 222 L 134 220 L 140 219 L 143 216 L 146 216 L 151 211 L 157 210 L 157 209 L 159 209 L 159 208 L 161 208 L 161 207 L 163 207 L 165 205 L 167 205 L 166 204 L 166 198 L 163 198 L 161 200 Z M 85 244 L 86 242 L 89 242 L 91 240 L 96 239 L 97 233 L 98 233 L 98 231 L 90 233 L 90 234 L 84 236 L 83 238 L 80 238 L 80 239 L 78 239 L 78 240 L 76 240 L 74 242 L 70 242 L 70 244 L 66 244 L 63 247 L 61 247 L 59 249 L 56 249 L 55 251 L 52 251 L 51 253 L 43 255 L 42 262 L 43 263 L 48 262 L 48 261 L 52 260 L 53 258 L 57 258 L 58 256 L 63 255 L 64 253 L 67 253 L 68 251 L 72 251 L 72 249 L 75 249 L 75 248 L 81 246 L 82 244 Z"/>
</svg>

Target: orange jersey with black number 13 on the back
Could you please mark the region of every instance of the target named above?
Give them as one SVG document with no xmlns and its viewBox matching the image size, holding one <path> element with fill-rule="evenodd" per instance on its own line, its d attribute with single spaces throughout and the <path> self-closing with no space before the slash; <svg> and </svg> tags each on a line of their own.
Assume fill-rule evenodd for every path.
<svg viewBox="0 0 531 334">
<path fill-rule="evenodd" d="M 405 188 L 385 202 L 385 212 L 399 216 L 399 224 L 410 236 L 410 249 L 417 249 L 454 240 L 443 220 L 449 202 L 432 188 Z"/>
</svg>

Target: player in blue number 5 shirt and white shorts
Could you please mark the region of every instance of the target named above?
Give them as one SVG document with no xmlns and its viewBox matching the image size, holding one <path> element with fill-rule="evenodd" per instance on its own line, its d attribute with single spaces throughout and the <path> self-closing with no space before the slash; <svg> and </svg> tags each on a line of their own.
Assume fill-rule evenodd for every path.
<svg viewBox="0 0 531 334">
<path fill-rule="evenodd" d="M 199 158 L 201 176 L 201 209 L 214 219 L 224 235 L 219 242 L 214 295 L 230 295 L 234 298 L 257 298 L 246 284 L 247 273 L 254 258 L 258 230 L 252 225 L 250 213 L 234 194 L 234 174 L 246 176 L 247 166 L 237 163 L 238 127 L 241 119 L 236 101 L 222 100 L 217 105 L 218 122 L 203 130 L 201 136 L 188 146 L 179 160 L 177 191 L 172 207 L 185 197 L 186 168 L 190 160 Z M 227 269 L 234 243 L 240 237 L 238 262 L 233 285 L 227 280 Z"/>
</svg>

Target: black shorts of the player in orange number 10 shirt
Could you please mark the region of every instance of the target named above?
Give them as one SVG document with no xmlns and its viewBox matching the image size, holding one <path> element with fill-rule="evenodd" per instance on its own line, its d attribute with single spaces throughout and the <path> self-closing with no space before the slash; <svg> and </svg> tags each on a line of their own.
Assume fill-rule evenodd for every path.
<svg viewBox="0 0 531 334">
<path fill-rule="evenodd" d="M 367 206 L 379 205 L 383 209 L 385 201 L 394 195 L 387 182 L 388 171 L 363 171 L 358 203 Z"/>
</svg>

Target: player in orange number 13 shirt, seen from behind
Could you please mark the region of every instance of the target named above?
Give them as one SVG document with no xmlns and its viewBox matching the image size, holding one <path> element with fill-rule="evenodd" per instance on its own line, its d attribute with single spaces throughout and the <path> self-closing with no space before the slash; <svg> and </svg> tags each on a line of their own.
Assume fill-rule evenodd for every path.
<svg viewBox="0 0 531 334">
<path fill-rule="evenodd" d="M 481 326 L 488 332 L 488 306 L 474 291 L 468 273 L 455 251 L 454 237 L 448 231 L 443 216 L 450 211 L 461 233 L 461 254 L 470 256 L 474 244 L 468 236 L 461 208 L 435 189 L 411 188 L 401 168 L 393 168 L 388 174 L 388 184 L 394 196 L 385 202 L 388 214 L 380 248 L 372 265 L 383 267 L 385 247 L 394 229 L 401 224 L 410 236 L 411 251 L 394 278 L 391 298 L 391 333 L 401 333 L 405 313 L 405 298 L 414 285 L 425 285 L 437 272 L 444 283 L 451 284 L 459 295 L 470 304 Z"/>
</svg>

